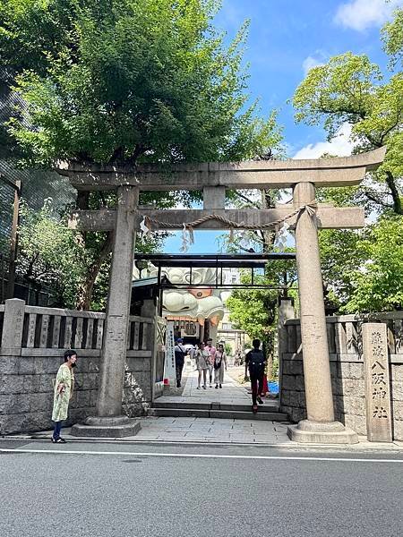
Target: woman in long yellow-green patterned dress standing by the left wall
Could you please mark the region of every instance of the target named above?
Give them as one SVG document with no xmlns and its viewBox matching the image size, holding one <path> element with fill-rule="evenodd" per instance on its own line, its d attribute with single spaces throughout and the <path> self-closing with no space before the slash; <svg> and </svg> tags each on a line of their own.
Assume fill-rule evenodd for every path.
<svg viewBox="0 0 403 537">
<path fill-rule="evenodd" d="M 64 353 L 64 363 L 62 363 L 57 371 L 52 412 L 52 421 L 55 422 L 55 430 L 52 435 L 52 442 L 54 444 L 65 443 L 65 440 L 60 436 L 60 430 L 62 429 L 62 422 L 67 419 L 70 399 L 73 396 L 73 368 L 76 362 L 77 353 L 73 349 L 66 351 Z"/>
</svg>

